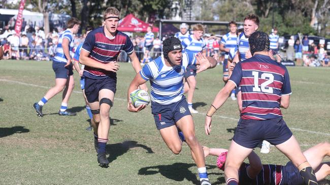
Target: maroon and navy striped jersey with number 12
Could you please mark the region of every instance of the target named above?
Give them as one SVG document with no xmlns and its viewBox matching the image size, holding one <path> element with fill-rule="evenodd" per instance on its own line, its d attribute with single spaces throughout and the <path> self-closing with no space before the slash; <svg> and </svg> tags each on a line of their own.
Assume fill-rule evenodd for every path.
<svg viewBox="0 0 330 185">
<path fill-rule="evenodd" d="M 255 55 L 239 62 L 229 81 L 241 86 L 242 119 L 268 120 L 282 117 L 281 97 L 291 95 L 289 73 L 269 56 Z"/>
</svg>

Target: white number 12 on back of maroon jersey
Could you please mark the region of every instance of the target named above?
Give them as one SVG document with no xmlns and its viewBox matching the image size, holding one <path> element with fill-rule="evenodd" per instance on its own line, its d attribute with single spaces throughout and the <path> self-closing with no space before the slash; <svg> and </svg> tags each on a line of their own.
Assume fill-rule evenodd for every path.
<svg viewBox="0 0 330 185">
<path fill-rule="evenodd" d="M 253 91 L 273 93 L 273 87 L 267 86 L 267 85 L 274 82 L 274 75 L 273 74 L 271 74 L 271 73 L 262 73 L 261 74 L 261 79 L 264 79 L 266 81 L 261 83 L 260 87 L 259 87 L 259 72 L 258 71 L 252 71 L 252 75 L 254 77 Z"/>
</svg>

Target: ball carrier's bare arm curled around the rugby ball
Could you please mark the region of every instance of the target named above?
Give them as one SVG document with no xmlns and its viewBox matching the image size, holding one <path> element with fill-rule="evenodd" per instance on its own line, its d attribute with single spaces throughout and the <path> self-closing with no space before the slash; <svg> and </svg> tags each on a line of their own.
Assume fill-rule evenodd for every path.
<svg viewBox="0 0 330 185">
<path fill-rule="evenodd" d="M 139 112 L 142 109 L 146 108 L 146 105 L 140 105 L 139 107 L 135 108 L 129 98 L 130 92 L 138 89 L 138 87 L 141 84 L 144 84 L 145 82 L 146 82 L 146 80 L 141 77 L 140 73 L 137 73 L 137 75 L 135 75 L 135 78 L 133 79 L 133 81 L 130 82 L 128 90 L 127 90 L 127 109 L 128 109 L 128 111 Z"/>
</svg>

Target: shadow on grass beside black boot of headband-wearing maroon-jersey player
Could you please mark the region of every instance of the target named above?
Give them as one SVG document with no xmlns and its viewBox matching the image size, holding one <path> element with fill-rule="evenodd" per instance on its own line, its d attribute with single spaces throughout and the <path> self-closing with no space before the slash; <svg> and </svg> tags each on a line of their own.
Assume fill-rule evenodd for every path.
<svg viewBox="0 0 330 185">
<path fill-rule="evenodd" d="M 131 148 L 141 147 L 147 151 L 148 154 L 153 154 L 154 152 L 150 147 L 138 144 L 136 141 L 124 141 L 123 143 L 116 143 L 106 146 L 106 151 L 109 153 L 108 160 L 111 163 L 116 160 L 117 157 L 122 156 Z"/>
</svg>

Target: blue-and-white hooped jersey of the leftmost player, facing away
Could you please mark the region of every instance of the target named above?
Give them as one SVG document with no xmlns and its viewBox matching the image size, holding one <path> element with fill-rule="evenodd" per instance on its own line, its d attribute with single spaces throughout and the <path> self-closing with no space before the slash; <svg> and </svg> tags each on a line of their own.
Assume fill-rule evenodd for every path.
<svg viewBox="0 0 330 185">
<path fill-rule="evenodd" d="M 67 59 L 67 57 L 65 57 L 63 48 L 62 48 L 62 41 L 64 38 L 67 38 L 69 40 L 69 53 L 70 53 L 70 56 L 73 57 L 73 48 L 75 47 L 75 42 L 74 42 L 73 33 L 68 28 L 68 29 L 62 31 L 58 36 L 56 54 L 53 59 L 54 62 L 68 62 L 68 59 Z"/>
</svg>

